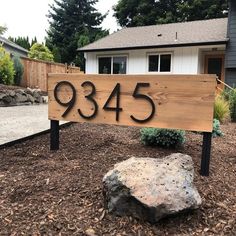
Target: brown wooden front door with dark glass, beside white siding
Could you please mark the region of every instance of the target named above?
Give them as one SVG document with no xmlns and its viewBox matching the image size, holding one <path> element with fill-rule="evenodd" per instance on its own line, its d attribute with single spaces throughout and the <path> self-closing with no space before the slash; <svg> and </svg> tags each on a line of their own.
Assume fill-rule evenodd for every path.
<svg viewBox="0 0 236 236">
<path fill-rule="evenodd" d="M 219 80 L 225 82 L 223 54 L 205 56 L 205 74 L 216 74 Z M 217 88 L 223 90 L 224 84 L 217 81 Z"/>
</svg>

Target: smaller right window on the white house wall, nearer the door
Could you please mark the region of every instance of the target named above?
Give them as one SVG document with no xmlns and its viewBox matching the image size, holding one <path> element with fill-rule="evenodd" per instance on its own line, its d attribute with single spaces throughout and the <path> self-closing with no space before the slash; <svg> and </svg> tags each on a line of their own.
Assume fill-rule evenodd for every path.
<svg viewBox="0 0 236 236">
<path fill-rule="evenodd" d="M 149 55 L 148 72 L 171 72 L 171 54 Z"/>
</svg>

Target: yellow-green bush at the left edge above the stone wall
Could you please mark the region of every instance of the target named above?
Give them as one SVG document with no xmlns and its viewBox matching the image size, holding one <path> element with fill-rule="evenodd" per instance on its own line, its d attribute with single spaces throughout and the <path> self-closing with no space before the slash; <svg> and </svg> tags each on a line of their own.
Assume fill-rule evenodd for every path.
<svg viewBox="0 0 236 236">
<path fill-rule="evenodd" d="M 14 82 L 14 64 L 9 53 L 0 45 L 0 83 L 13 84 Z"/>
</svg>

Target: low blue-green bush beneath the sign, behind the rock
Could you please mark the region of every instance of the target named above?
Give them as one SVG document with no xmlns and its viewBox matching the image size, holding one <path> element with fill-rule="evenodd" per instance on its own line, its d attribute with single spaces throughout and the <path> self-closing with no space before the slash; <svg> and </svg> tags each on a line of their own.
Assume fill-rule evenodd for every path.
<svg viewBox="0 0 236 236">
<path fill-rule="evenodd" d="M 140 132 L 142 143 L 148 146 L 176 148 L 185 142 L 182 130 L 143 128 Z"/>
</svg>

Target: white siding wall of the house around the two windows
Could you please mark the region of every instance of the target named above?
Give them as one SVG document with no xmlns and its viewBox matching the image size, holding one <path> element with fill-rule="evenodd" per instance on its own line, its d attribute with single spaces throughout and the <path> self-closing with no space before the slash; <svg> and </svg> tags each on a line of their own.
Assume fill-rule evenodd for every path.
<svg viewBox="0 0 236 236">
<path fill-rule="evenodd" d="M 209 50 L 215 47 L 216 46 L 208 46 Z M 202 73 L 202 56 L 200 52 L 205 48 L 206 47 L 179 47 L 126 51 L 87 52 L 85 53 L 86 74 L 98 74 L 98 57 L 106 55 L 126 55 L 128 57 L 127 74 L 147 74 L 147 55 L 149 53 L 172 53 L 172 74 L 198 74 Z"/>
</svg>

